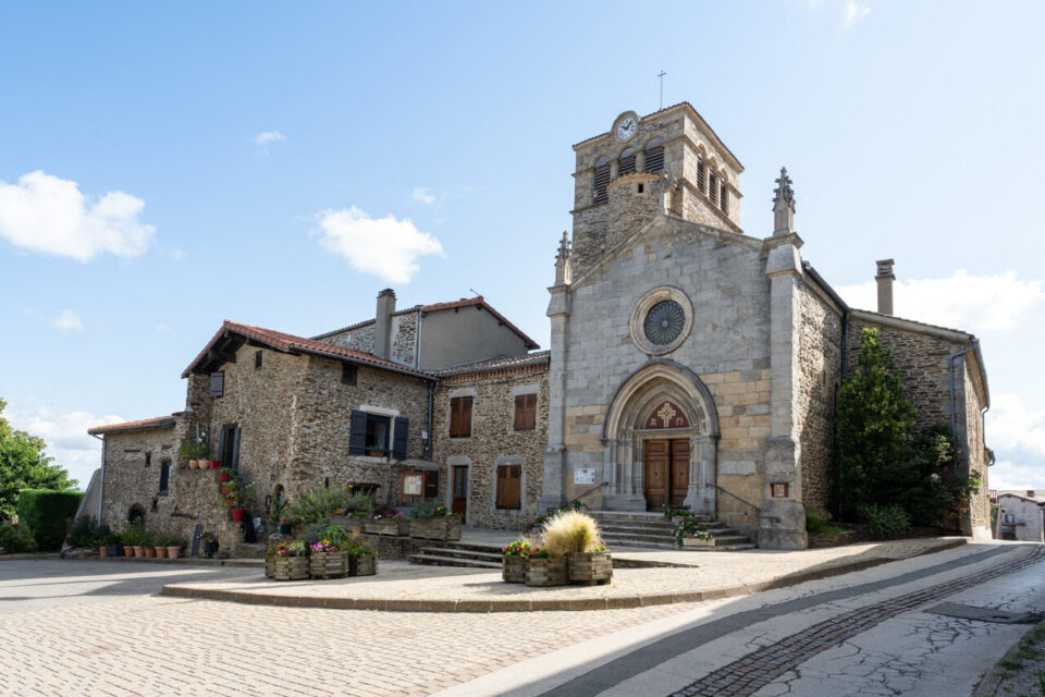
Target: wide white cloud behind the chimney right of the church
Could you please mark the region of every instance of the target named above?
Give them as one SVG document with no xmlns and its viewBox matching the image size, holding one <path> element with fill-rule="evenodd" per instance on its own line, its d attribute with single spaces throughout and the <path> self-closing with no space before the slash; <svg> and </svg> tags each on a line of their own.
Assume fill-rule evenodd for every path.
<svg viewBox="0 0 1045 697">
<path fill-rule="evenodd" d="M 853 307 L 877 307 L 874 281 L 837 290 Z M 1016 271 L 971 276 L 959 270 L 947 279 L 914 279 L 893 284 L 893 310 L 897 317 L 973 333 L 1012 329 L 1043 301 L 1042 281 L 1021 281 Z"/>
</svg>

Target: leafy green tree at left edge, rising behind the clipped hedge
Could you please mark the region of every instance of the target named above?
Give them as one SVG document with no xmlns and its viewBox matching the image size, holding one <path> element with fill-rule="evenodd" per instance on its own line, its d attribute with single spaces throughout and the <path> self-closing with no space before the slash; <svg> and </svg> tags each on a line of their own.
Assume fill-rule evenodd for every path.
<svg viewBox="0 0 1045 697">
<path fill-rule="evenodd" d="M 42 438 L 11 428 L 3 418 L 8 405 L 0 399 L 0 519 L 14 516 L 22 489 L 72 489 L 75 479 L 46 454 Z"/>
</svg>

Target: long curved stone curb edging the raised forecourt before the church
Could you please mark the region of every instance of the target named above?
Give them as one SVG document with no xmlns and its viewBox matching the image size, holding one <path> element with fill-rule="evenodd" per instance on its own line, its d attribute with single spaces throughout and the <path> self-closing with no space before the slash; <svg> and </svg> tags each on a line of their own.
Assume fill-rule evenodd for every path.
<svg viewBox="0 0 1045 697">
<path fill-rule="evenodd" d="M 968 543 L 964 538 L 948 540 L 946 543 L 902 559 L 914 559 L 934 554 Z M 256 606 L 278 606 L 284 608 L 328 608 L 333 610 L 383 610 L 386 612 L 544 612 L 583 610 L 627 610 L 631 608 L 647 608 L 650 606 L 667 606 L 681 602 L 702 602 L 704 600 L 720 600 L 747 596 L 763 590 L 795 586 L 809 580 L 829 578 L 857 571 L 871 568 L 901 559 L 872 559 L 848 564 L 840 564 L 820 571 L 804 571 L 789 574 L 772 580 L 758 584 L 726 586 L 710 590 L 692 590 L 675 594 L 644 594 L 637 596 L 622 596 L 617 598 L 563 598 L 563 599 L 511 599 L 511 600 L 407 600 L 397 598 L 325 598 L 310 596 L 287 596 L 282 594 L 244 592 L 238 590 L 222 590 L 219 588 L 195 588 L 170 584 L 163 586 L 160 595 L 173 598 L 192 598 L 194 600 L 222 600 L 226 602 L 242 602 Z"/>
</svg>

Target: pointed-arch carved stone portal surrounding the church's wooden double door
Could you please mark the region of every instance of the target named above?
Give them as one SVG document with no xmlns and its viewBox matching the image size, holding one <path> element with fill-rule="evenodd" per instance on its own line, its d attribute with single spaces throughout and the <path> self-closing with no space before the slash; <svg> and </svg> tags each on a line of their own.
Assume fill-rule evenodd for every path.
<svg viewBox="0 0 1045 697">
<path fill-rule="evenodd" d="M 681 414 L 664 411 L 666 418 L 655 423 L 652 417 L 665 403 Z M 606 509 L 646 511 L 647 441 L 686 439 L 685 503 L 699 514 L 715 514 L 718 414 L 708 387 L 686 366 L 656 358 L 628 376 L 610 403 L 602 439 Z"/>
</svg>

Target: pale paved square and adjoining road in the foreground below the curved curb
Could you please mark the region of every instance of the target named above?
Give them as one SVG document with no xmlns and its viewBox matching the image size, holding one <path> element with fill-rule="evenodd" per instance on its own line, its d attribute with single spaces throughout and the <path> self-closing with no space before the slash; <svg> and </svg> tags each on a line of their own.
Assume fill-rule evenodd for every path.
<svg viewBox="0 0 1045 697">
<path fill-rule="evenodd" d="M 158 595 L 168 583 L 253 583 L 254 567 L 3 561 L 0 695 L 666 697 L 728 688 L 958 697 L 1028 627 L 933 608 L 1045 611 L 1043 555 L 1033 546 L 967 545 L 738 598 L 503 613 Z"/>
</svg>

